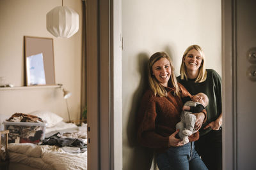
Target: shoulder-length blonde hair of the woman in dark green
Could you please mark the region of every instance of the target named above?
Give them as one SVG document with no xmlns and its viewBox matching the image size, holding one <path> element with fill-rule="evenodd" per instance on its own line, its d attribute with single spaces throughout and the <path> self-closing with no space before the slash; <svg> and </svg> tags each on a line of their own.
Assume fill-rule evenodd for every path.
<svg viewBox="0 0 256 170">
<path fill-rule="evenodd" d="M 184 80 L 186 78 L 186 80 L 188 80 L 187 67 L 185 65 L 184 59 L 185 59 L 186 55 L 188 54 L 188 52 L 193 49 L 198 51 L 202 57 L 202 63 L 201 63 L 201 66 L 199 67 L 198 76 L 196 77 L 196 80 L 195 80 L 196 83 L 201 83 L 206 80 L 207 72 L 205 69 L 205 55 L 204 55 L 202 48 L 199 45 L 191 45 L 185 50 L 183 57 L 182 57 L 181 66 L 180 66 L 180 79 Z"/>
</svg>

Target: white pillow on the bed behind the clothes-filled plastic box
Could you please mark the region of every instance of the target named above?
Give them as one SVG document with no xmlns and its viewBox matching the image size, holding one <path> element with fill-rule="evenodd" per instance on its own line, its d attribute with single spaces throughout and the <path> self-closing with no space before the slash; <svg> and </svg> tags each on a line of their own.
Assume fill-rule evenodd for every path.
<svg viewBox="0 0 256 170">
<path fill-rule="evenodd" d="M 54 125 L 60 123 L 63 120 L 62 117 L 59 117 L 58 115 L 56 115 L 55 113 L 52 113 L 51 111 L 37 110 L 28 114 L 35 115 L 36 117 L 40 117 L 42 118 L 42 120 L 45 120 L 47 122 L 46 127 L 53 127 Z"/>
</svg>

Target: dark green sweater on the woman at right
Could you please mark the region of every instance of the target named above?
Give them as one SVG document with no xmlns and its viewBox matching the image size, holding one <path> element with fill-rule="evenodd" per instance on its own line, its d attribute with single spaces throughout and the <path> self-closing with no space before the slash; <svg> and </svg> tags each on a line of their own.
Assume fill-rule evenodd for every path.
<svg viewBox="0 0 256 170">
<path fill-rule="evenodd" d="M 221 112 L 221 76 L 213 69 L 206 69 L 207 78 L 202 83 L 195 83 L 195 79 L 180 80 L 180 76 L 177 77 L 177 81 L 184 85 L 191 95 L 203 92 L 209 98 L 209 104 L 206 107 L 207 120 L 199 130 L 200 136 L 207 134 L 211 131 L 211 128 L 205 129 L 205 125 L 215 121 L 220 117 Z"/>
</svg>

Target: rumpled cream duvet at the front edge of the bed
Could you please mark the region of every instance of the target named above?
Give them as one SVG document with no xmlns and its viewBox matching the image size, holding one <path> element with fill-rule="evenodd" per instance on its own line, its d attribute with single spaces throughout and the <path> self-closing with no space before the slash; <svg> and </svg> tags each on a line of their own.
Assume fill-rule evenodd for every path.
<svg viewBox="0 0 256 170">
<path fill-rule="evenodd" d="M 62 148 L 32 143 L 10 143 L 10 162 L 38 169 L 87 169 L 87 152 L 67 153 Z"/>
</svg>

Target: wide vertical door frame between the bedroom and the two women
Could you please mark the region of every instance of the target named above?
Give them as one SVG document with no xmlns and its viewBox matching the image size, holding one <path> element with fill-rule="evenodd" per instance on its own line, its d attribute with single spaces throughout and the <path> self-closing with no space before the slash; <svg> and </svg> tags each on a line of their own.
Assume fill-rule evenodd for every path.
<svg viewBox="0 0 256 170">
<path fill-rule="evenodd" d="M 122 169 L 122 1 L 86 4 L 88 169 Z"/>
</svg>

